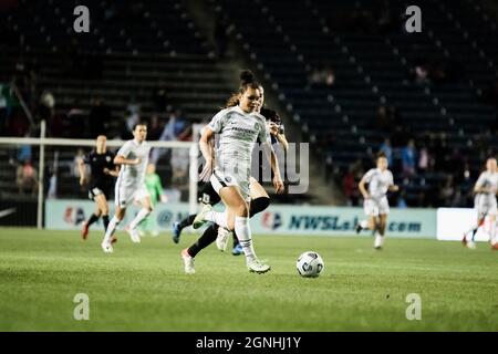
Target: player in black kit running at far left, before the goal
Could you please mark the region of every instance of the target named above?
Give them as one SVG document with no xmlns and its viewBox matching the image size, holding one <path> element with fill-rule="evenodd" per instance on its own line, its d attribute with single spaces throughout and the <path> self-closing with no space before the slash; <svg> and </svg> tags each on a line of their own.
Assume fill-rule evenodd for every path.
<svg viewBox="0 0 498 354">
<path fill-rule="evenodd" d="M 90 226 L 97 221 L 101 216 L 104 221 L 105 229 L 107 229 L 108 225 L 107 199 L 110 197 L 111 189 L 114 186 L 113 177 L 117 177 L 118 167 L 113 163 L 114 154 L 107 152 L 106 142 L 107 138 L 104 135 L 98 135 L 96 138 L 95 149 L 84 158 L 77 160 L 81 186 L 87 183 L 84 165 L 90 165 L 92 179 L 89 185 L 89 198 L 95 201 L 96 206 L 95 212 L 92 214 L 87 221 L 83 222 L 81 236 L 84 240 L 89 235 Z"/>
</svg>

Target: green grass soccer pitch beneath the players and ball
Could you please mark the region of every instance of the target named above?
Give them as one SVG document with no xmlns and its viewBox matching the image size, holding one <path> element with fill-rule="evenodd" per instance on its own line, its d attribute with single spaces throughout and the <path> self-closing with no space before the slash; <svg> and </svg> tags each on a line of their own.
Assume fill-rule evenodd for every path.
<svg viewBox="0 0 498 354">
<path fill-rule="evenodd" d="M 211 246 L 194 275 L 179 252 L 195 240 L 169 235 L 134 244 L 118 232 L 113 254 L 79 232 L 0 229 L 1 331 L 497 331 L 498 252 L 479 243 L 372 238 L 256 236 L 272 266 L 249 273 L 243 257 Z M 300 278 L 295 259 L 318 251 L 320 278 Z M 89 321 L 74 320 L 75 294 Z M 406 296 L 421 295 L 408 321 Z M 409 311 L 408 311 L 409 312 Z"/>
</svg>

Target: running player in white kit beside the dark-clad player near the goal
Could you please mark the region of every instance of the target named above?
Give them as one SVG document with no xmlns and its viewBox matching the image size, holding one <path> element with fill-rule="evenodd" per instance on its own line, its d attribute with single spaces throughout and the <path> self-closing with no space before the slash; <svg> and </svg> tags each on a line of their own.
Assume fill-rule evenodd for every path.
<svg viewBox="0 0 498 354">
<path fill-rule="evenodd" d="M 151 197 L 145 187 L 145 173 L 151 153 L 151 146 L 145 142 L 147 126 L 145 124 L 135 125 L 133 136 L 134 139 L 126 142 L 114 158 L 114 164 L 122 165 L 122 167 L 114 187 L 116 211 L 108 223 L 104 240 L 102 241 L 102 249 L 106 253 L 113 252 L 111 237 L 116 230 L 117 225 L 123 220 L 126 214 L 126 207 L 131 202 L 137 200 L 142 205 L 142 209 L 127 227 L 132 241 L 135 243 L 141 241 L 137 229 L 138 223 L 153 210 Z"/>
</svg>

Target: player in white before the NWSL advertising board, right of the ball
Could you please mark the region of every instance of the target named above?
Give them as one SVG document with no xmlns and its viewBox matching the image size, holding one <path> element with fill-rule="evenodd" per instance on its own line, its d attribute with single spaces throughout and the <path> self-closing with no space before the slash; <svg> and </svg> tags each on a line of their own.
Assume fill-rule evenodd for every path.
<svg viewBox="0 0 498 354">
<path fill-rule="evenodd" d="M 377 168 L 372 168 L 359 184 L 363 195 L 363 207 L 367 220 L 356 226 L 356 232 L 369 229 L 375 232 L 374 248 L 381 249 L 384 244 L 385 226 L 390 214 L 387 191 L 397 191 L 400 188 L 394 184 L 393 174 L 387 169 L 388 163 L 384 154 L 377 156 Z M 365 185 L 369 185 L 366 190 Z"/>
</svg>

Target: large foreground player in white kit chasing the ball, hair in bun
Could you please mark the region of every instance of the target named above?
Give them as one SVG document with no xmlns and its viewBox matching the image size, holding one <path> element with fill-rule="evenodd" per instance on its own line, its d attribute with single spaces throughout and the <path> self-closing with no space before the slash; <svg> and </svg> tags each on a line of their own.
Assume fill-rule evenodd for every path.
<svg viewBox="0 0 498 354">
<path fill-rule="evenodd" d="M 235 230 L 246 256 L 248 269 L 252 272 L 264 273 L 270 270 L 270 266 L 256 257 L 249 226 L 248 202 L 252 149 L 258 138 L 260 142 L 269 140 L 269 132 L 264 117 L 255 112 L 261 98 L 260 85 L 250 72 L 243 72 L 240 79 L 239 104 L 216 114 L 203 131 L 199 140 L 200 150 L 206 160 L 200 178 L 210 176 L 211 185 L 221 197 L 226 210 L 215 212 L 210 206 L 205 206 L 194 220 L 193 227 L 196 229 L 206 221 L 212 221 L 220 227 Z M 220 136 L 216 150 L 216 167 L 215 152 L 210 144 L 215 133 Z M 283 181 L 277 157 L 271 146 L 268 143 L 264 144 L 270 152 L 271 168 L 274 174 L 273 186 L 277 192 L 282 192 Z M 191 257 L 186 252 L 187 250 L 184 250 L 181 256 L 187 270 Z"/>
</svg>

